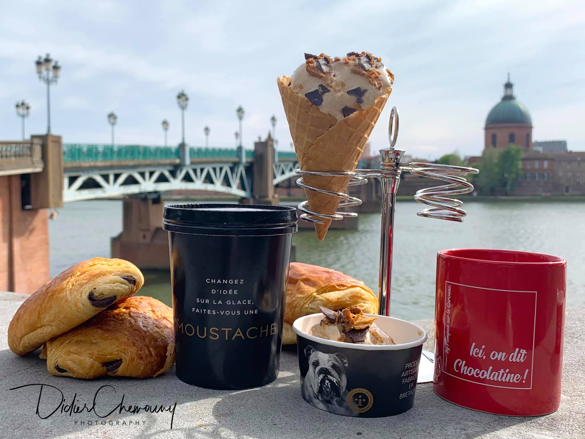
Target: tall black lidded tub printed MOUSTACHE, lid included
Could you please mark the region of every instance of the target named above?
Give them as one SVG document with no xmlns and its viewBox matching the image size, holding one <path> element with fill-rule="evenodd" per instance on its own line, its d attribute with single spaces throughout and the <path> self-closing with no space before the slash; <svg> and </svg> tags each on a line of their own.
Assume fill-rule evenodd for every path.
<svg viewBox="0 0 585 439">
<path fill-rule="evenodd" d="M 294 207 L 167 205 L 177 377 L 213 389 L 276 379 Z"/>
</svg>

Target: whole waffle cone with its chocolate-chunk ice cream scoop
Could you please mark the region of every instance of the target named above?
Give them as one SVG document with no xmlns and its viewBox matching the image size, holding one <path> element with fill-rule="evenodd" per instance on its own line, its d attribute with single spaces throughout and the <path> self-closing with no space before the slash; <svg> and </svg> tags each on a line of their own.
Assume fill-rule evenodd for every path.
<svg viewBox="0 0 585 439">
<path fill-rule="evenodd" d="M 305 54 L 292 78 L 277 79 L 301 170 L 353 172 L 388 97 L 394 76 L 370 53 L 343 59 Z M 307 186 L 345 192 L 349 177 L 305 175 Z M 305 190 L 309 210 L 332 215 L 340 197 Z M 331 219 L 315 224 L 323 241 Z"/>
</svg>

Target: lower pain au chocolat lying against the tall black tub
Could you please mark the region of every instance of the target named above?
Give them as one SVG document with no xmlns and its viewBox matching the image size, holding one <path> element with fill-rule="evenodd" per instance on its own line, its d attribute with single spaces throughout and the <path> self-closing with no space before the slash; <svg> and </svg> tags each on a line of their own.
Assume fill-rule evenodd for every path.
<svg viewBox="0 0 585 439">
<path fill-rule="evenodd" d="M 173 366 L 174 348 L 173 310 L 152 297 L 135 296 L 47 341 L 41 358 L 57 376 L 149 378 Z"/>
</svg>

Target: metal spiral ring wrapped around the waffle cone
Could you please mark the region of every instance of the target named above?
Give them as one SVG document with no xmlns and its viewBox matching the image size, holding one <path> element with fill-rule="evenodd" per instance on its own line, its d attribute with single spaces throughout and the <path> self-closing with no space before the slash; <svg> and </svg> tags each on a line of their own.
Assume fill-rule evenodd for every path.
<svg viewBox="0 0 585 439">
<path fill-rule="evenodd" d="M 295 173 L 300 175 L 312 175 L 312 176 L 325 176 L 325 177 L 350 177 L 349 183 L 347 186 L 357 186 L 359 184 L 366 184 L 367 178 L 357 175 L 355 172 L 311 172 L 311 171 L 301 171 L 300 169 L 295 169 Z M 305 190 L 318 192 L 321 194 L 332 195 L 335 197 L 339 197 L 342 201 L 339 203 L 339 207 L 348 207 L 348 206 L 357 206 L 362 204 L 362 200 L 356 197 L 351 197 L 343 192 L 333 192 L 328 191 L 325 189 L 321 189 L 318 187 L 307 186 L 304 183 L 302 177 L 297 179 L 297 185 L 302 187 Z M 313 212 L 307 208 L 309 204 L 308 201 L 303 201 L 302 203 L 298 204 L 298 210 L 302 212 L 301 219 L 304 219 L 307 222 L 312 222 L 313 224 L 325 224 L 324 219 L 343 219 L 343 217 L 357 217 L 356 212 L 335 212 L 335 214 L 327 215 L 327 214 L 319 214 Z M 319 219 L 321 218 L 321 219 Z"/>
</svg>

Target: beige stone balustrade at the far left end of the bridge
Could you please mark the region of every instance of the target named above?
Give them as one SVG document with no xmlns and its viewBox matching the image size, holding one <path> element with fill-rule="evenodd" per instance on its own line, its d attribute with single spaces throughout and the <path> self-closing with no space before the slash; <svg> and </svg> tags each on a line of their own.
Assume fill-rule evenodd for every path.
<svg viewBox="0 0 585 439">
<path fill-rule="evenodd" d="M 41 172 L 43 167 L 40 139 L 0 142 L 0 176 Z"/>
</svg>

